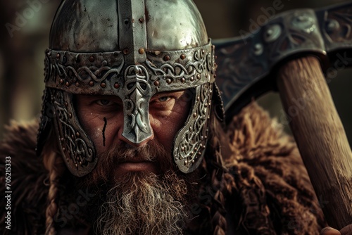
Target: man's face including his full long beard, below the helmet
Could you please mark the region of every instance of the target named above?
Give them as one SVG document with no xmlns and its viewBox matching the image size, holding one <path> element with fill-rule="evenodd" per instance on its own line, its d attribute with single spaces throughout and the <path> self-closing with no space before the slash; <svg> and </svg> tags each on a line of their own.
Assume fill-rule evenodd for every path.
<svg viewBox="0 0 352 235">
<path fill-rule="evenodd" d="M 117 96 L 76 96 L 80 122 L 98 154 L 84 184 L 108 186 L 100 193 L 96 218 L 101 234 L 175 234 L 184 228 L 186 195 L 194 191 L 188 182 L 196 179 L 175 172 L 172 145 L 189 115 L 185 96 L 185 91 L 175 91 L 151 98 L 152 135 L 139 144 L 122 136 L 124 115 Z"/>
</svg>

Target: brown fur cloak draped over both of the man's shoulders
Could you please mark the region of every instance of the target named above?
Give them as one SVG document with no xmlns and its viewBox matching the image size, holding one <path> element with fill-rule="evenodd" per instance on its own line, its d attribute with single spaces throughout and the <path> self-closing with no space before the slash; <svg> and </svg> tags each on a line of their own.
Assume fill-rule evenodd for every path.
<svg viewBox="0 0 352 235">
<path fill-rule="evenodd" d="M 44 234 L 49 186 L 42 158 L 35 155 L 37 127 L 12 122 L 0 143 L 0 234 Z M 234 176 L 232 196 L 225 198 L 227 234 L 319 234 L 325 221 L 306 168 L 294 141 L 268 113 L 251 103 L 234 117 L 224 139 L 222 161 Z M 6 157 L 11 157 L 11 230 L 4 228 Z"/>
</svg>

